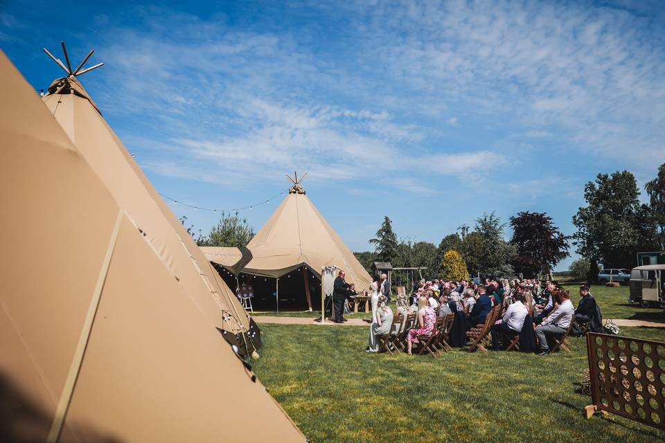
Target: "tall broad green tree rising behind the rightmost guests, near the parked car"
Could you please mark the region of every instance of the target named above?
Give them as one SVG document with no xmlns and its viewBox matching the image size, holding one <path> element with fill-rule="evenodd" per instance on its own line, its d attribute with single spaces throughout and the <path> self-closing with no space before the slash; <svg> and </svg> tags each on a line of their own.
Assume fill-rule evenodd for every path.
<svg viewBox="0 0 665 443">
<path fill-rule="evenodd" d="M 596 282 L 598 263 L 630 268 L 638 251 L 657 243 L 653 211 L 639 203 L 635 176 L 628 171 L 598 174 L 584 187 L 587 206 L 573 217 L 578 254 L 589 259 L 587 280 Z"/>
</svg>

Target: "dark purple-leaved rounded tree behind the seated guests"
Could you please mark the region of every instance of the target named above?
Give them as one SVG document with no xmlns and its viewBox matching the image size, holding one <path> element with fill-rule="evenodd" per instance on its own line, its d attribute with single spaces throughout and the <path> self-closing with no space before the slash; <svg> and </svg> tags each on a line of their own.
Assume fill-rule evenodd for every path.
<svg viewBox="0 0 665 443">
<path fill-rule="evenodd" d="M 563 235 L 547 213 L 517 213 L 511 217 L 511 244 L 517 253 L 513 257 L 516 273 L 534 278 L 568 257 L 568 237 Z"/>
</svg>

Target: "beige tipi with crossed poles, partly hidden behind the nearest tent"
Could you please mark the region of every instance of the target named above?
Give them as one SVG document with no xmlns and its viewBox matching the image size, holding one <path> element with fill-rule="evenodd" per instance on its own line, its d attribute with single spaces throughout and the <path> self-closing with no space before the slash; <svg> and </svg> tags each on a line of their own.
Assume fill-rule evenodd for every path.
<svg viewBox="0 0 665 443">
<path fill-rule="evenodd" d="M 51 84 L 42 98 L 46 107 L 211 325 L 247 337 L 245 309 L 107 125 L 76 71 L 70 72 L 69 62 L 59 64 L 71 75 Z"/>
</svg>

